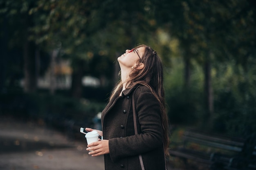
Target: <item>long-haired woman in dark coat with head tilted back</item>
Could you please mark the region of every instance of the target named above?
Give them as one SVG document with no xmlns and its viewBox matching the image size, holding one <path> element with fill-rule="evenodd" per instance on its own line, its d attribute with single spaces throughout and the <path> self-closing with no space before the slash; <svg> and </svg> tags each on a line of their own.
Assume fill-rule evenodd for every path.
<svg viewBox="0 0 256 170">
<path fill-rule="evenodd" d="M 89 152 L 92 156 L 104 155 L 106 170 L 140 170 L 138 155 L 142 155 L 145 170 L 164 170 L 169 140 L 162 63 L 157 53 L 145 45 L 126 50 L 117 61 L 121 80 L 102 111 L 102 131 L 98 132 L 103 140 L 89 144 L 87 150 L 94 150 Z M 137 135 L 132 116 L 133 94 Z"/>
</svg>

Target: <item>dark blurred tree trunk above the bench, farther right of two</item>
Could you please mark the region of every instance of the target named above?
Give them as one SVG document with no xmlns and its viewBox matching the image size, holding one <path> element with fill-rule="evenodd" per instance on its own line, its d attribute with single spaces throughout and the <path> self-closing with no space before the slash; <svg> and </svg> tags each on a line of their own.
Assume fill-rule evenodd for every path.
<svg viewBox="0 0 256 170">
<path fill-rule="evenodd" d="M 211 61 L 210 55 L 207 54 L 207 60 L 204 65 L 204 91 L 205 91 L 205 101 L 206 101 L 206 115 L 205 115 L 205 126 L 206 128 L 211 128 L 213 120 L 213 89 L 211 86 Z"/>
</svg>

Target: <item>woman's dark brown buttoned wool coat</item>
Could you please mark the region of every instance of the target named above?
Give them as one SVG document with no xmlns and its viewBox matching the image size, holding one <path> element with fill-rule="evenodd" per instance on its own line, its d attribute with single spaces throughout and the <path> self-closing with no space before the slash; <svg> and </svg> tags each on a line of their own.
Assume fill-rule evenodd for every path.
<svg viewBox="0 0 256 170">
<path fill-rule="evenodd" d="M 104 155 L 105 170 L 140 170 L 139 154 L 145 170 L 164 170 L 163 134 L 159 102 L 146 86 L 135 92 L 137 127 L 132 116 L 132 94 L 126 89 L 115 94 L 102 111 L 103 139 L 109 140 L 110 153 Z"/>
</svg>

